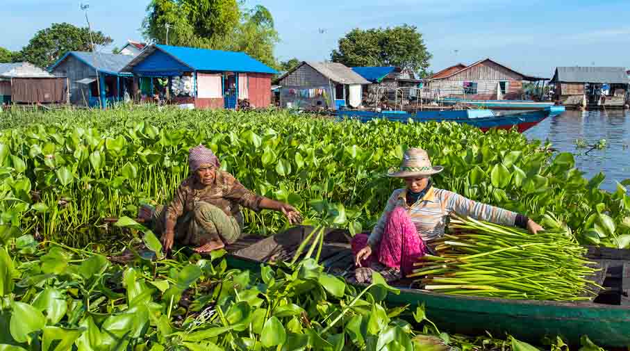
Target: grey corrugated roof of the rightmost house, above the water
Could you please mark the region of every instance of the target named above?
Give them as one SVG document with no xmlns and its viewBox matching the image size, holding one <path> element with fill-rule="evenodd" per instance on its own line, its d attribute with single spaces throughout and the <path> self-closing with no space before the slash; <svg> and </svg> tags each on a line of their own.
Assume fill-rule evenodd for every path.
<svg viewBox="0 0 630 351">
<path fill-rule="evenodd" d="M 630 83 L 624 67 L 556 67 L 554 82 Z"/>
</svg>

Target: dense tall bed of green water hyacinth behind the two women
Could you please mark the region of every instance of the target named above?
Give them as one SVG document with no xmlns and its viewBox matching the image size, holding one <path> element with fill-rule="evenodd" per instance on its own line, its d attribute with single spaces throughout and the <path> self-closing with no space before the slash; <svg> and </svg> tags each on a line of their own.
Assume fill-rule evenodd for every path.
<svg viewBox="0 0 630 351">
<path fill-rule="evenodd" d="M 8 113 L 0 122 L 0 238 L 12 232 L 71 245 L 116 240 L 102 219 L 165 203 L 187 176 L 188 148 L 211 147 L 222 168 L 261 195 L 308 209 L 342 204 L 353 229 L 370 228 L 396 180 L 383 177 L 408 145 L 445 166 L 436 186 L 542 220 L 554 213 L 580 243 L 629 247 L 630 196 L 599 190 L 572 154 L 515 132 L 481 133 L 451 123 L 335 122 L 283 111 L 181 111 L 151 106 L 108 111 Z M 276 213 L 245 212 L 246 231 L 270 234 Z"/>
</svg>

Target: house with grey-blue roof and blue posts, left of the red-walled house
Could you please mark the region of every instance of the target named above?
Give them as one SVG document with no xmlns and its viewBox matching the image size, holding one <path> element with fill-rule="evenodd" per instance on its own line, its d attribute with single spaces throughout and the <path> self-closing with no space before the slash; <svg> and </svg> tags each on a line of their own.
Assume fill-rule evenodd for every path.
<svg viewBox="0 0 630 351">
<path fill-rule="evenodd" d="M 49 68 L 55 76 L 67 77 L 70 103 L 101 107 L 133 96 L 133 76 L 121 72 L 133 56 L 69 51 Z M 97 81 L 98 80 L 98 81 Z"/>
</svg>

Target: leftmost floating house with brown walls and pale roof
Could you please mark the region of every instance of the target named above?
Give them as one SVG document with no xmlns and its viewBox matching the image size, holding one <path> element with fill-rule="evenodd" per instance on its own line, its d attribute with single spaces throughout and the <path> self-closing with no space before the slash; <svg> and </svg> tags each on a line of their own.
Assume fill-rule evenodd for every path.
<svg viewBox="0 0 630 351">
<path fill-rule="evenodd" d="M 57 104 L 67 98 L 67 79 L 31 63 L 0 63 L 0 106 Z"/>
</svg>

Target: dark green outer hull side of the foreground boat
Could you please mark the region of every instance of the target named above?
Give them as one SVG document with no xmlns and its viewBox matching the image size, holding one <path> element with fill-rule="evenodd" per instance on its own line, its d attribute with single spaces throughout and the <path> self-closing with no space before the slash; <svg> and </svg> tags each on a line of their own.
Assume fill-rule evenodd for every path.
<svg viewBox="0 0 630 351">
<path fill-rule="evenodd" d="M 232 268 L 260 270 L 260 262 L 229 255 Z M 360 287 L 359 287 L 360 288 Z M 540 343 L 544 336 L 562 336 L 570 345 L 588 337 L 611 348 L 630 346 L 630 307 L 605 304 L 466 297 L 401 288 L 390 293 L 390 306 L 425 304 L 427 317 L 440 329 L 458 334 L 503 337 Z"/>
</svg>

